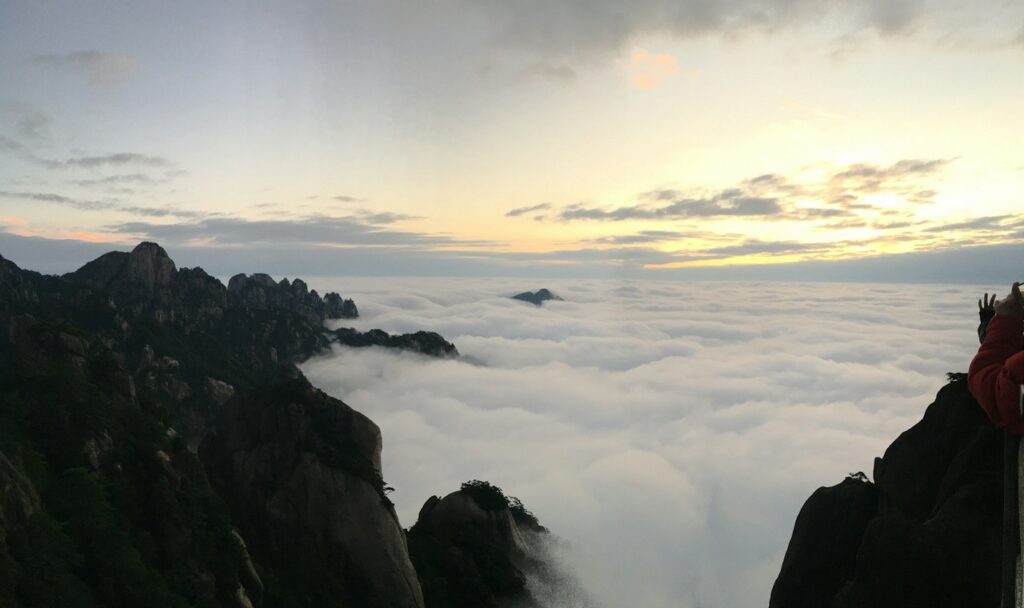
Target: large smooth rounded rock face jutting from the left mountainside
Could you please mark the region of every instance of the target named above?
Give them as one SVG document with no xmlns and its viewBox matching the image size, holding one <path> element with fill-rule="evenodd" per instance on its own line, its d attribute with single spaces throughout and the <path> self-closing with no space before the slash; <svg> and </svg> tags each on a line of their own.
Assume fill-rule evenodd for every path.
<svg viewBox="0 0 1024 608">
<path fill-rule="evenodd" d="M 268 590 L 270 605 L 422 608 L 380 429 L 293 376 L 225 403 L 200 450 L 249 544 L 298 585 Z"/>
</svg>

